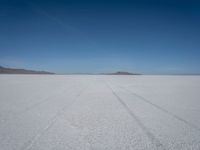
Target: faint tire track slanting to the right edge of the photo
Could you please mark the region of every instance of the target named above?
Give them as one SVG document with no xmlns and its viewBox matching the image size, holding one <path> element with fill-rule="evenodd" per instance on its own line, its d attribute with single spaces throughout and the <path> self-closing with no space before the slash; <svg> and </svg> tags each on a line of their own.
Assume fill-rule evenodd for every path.
<svg viewBox="0 0 200 150">
<path fill-rule="evenodd" d="M 128 93 L 130 93 L 130 94 L 132 94 L 132 95 L 138 97 L 138 98 L 139 98 L 140 100 L 142 100 L 143 102 L 145 102 L 145 103 L 147 103 L 147 104 L 150 104 L 151 106 L 157 108 L 158 110 L 164 112 L 165 114 L 167 114 L 167 115 L 169 115 L 169 116 L 175 118 L 176 120 L 181 121 L 181 122 L 185 123 L 186 125 L 188 125 L 189 127 L 193 128 L 193 129 L 195 129 L 195 130 L 200 131 L 200 128 L 199 128 L 199 127 L 197 127 L 196 125 L 190 123 L 189 121 L 187 121 L 187 120 L 185 120 L 185 119 L 179 117 L 178 115 L 176 115 L 176 114 L 174 114 L 174 113 L 168 111 L 167 109 L 165 109 L 165 108 L 163 108 L 163 107 L 161 107 L 161 106 L 159 106 L 159 105 L 157 105 L 157 104 L 152 103 L 151 101 L 149 101 L 148 99 L 144 98 L 143 96 L 140 96 L 140 95 L 138 95 L 137 93 L 132 92 L 132 91 L 130 91 L 130 90 L 128 90 L 128 89 L 126 89 L 126 88 L 124 88 L 124 87 L 122 87 L 122 86 L 119 86 L 119 87 L 120 87 L 121 89 L 127 91 Z"/>
</svg>

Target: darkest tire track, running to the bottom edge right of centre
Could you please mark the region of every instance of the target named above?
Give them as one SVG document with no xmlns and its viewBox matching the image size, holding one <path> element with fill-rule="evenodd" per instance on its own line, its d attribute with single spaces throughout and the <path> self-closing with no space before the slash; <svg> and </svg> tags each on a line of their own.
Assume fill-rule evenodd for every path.
<svg viewBox="0 0 200 150">
<path fill-rule="evenodd" d="M 104 81 L 105 82 L 105 81 Z M 118 102 L 125 108 L 128 114 L 136 121 L 137 125 L 142 129 L 145 135 L 148 137 L 150 142 L 156 146 L 159 150 L 167 150 L 167 148 L 155 137 L 153 133 L 142 123 L 138 116 L 127 106 L 127 104 L 116 94 L 116 92 L 105 82 L 106 86 L 112 91 Z"/>
</svg>

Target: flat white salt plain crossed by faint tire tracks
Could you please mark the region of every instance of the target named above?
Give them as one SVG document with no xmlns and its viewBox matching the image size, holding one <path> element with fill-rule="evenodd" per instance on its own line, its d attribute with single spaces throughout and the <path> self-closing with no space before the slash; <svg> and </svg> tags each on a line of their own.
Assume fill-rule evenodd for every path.
<svg viewBox="0 0 200 150">
<path fill-rule="evenodd" d="M 199 150 L 200 76 L 1 75 L 1 150 Z"/>
</svg>

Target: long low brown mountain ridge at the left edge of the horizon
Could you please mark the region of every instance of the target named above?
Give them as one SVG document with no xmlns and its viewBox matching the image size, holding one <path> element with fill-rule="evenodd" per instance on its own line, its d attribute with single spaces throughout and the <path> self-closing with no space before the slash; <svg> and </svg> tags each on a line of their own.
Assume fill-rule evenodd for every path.
<svg viewBox="0 0 200 150">
<path fill-rule="evenodd" d="M 5 67 L 0 66 L 0 74 L 54 74 L 54 73 L 47 72 L 47 71 L 5 68 Z"/>
</svg>

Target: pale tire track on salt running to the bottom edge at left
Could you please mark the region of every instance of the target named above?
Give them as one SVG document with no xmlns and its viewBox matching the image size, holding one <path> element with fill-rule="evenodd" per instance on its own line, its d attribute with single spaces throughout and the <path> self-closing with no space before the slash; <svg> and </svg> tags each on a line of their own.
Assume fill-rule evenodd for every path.
<svg viewBox="0 0 200 150">
<path fill-rule="evenodd" d="M 88 89 L 88 87 L 86 87 L 83 90 L 81 90 L 75 96 L 75 98 L 73 98 L 71 104 L 68 104 L 68 105 L 64 106 L 59 112 L 57 112 L 56 115 L 49 121 L 47 126 L 41 132 L 36 134 L 27 144 L 25 144 L 21 148 L 21 150 L 30 150 L 34 146 L 34 144 L 56 123 L 56 121 L 59 119 L 59 117 L 65 112 L 65 110 L 67 108 L 69 108 L 70 106 L 72 106 L 78 100 L 78 98 L 84 93 L 84 91 L 86 91 L 87 89 Z"/>
</svg>

